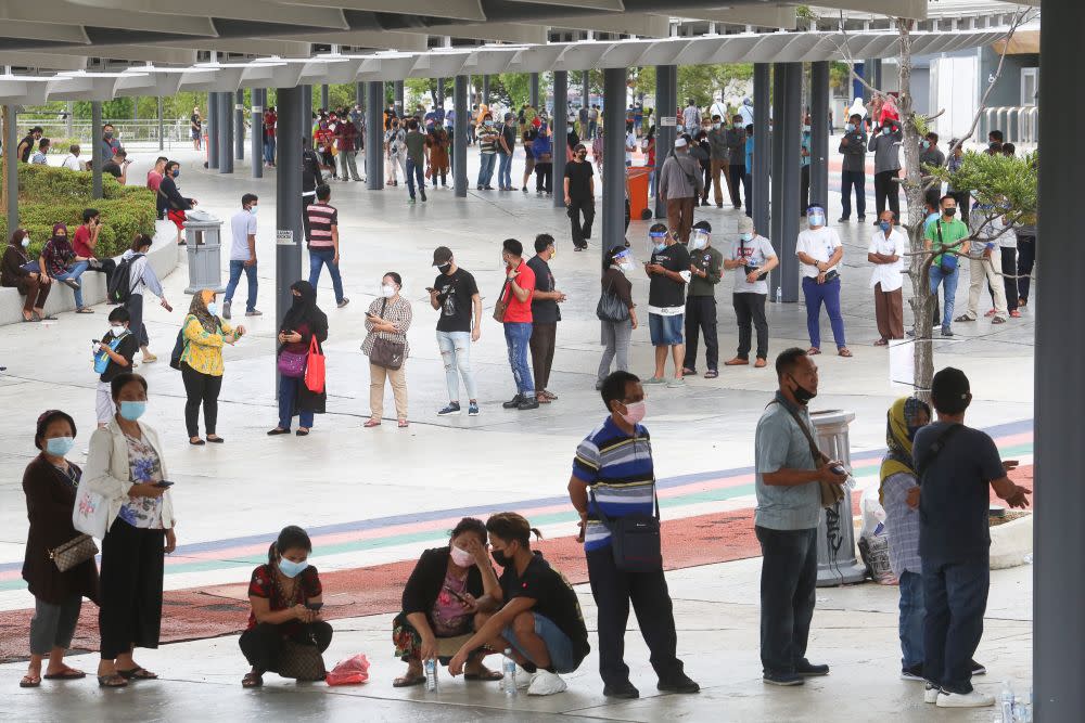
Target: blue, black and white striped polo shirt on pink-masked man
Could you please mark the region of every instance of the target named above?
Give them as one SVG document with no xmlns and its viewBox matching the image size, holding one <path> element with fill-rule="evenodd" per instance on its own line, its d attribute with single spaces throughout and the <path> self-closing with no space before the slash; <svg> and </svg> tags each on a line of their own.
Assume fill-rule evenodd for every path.
<svg viewBox="0 0 1085 723">
<path fill-rule="evenodd" d="M 607 417 L 576 448 L 573 476 L 595 493 L 595 500 L 588 496 L 586 551 L 610 544 L 610 530 L 599 518 L 600 509 L 611 519 L 654 513 L 652 442 L 648 429 L 640 425 L 630 437 Z"/>
</svg>

